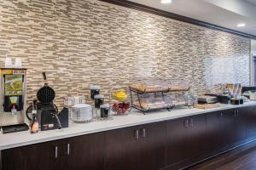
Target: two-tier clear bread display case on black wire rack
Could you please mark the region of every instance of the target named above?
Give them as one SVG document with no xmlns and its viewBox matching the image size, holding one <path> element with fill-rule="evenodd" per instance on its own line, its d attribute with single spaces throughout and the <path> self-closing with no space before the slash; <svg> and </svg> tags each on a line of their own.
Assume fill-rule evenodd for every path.
<svg viewBox="0 0 256 170">
<path fill-rule="evenodd" d="M 182 79 L 134 78 L 129 86 L 132 107 L 143 111 L 172 109 L 175 105 L 192 105 L 188 99 L 189 82 Z"/>
</svg>

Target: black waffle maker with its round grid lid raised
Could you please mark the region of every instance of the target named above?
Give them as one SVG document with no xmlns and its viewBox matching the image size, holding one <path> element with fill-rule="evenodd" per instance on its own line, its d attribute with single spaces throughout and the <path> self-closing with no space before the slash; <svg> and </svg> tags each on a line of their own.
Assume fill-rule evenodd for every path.
<svg viewBox="0 0 256 170">
<path fill-rule="evenodd" d="M 37 99 L 33 100 L 33 105 L 37 109 L 39 127 L 42 131 L 68 127 L 68 110 L 64 108 L 59 113 L 57 106 L 54 104 L 55 91 L 46 82 L 45 72 L 43 72 L 43 77 L 44 86 L 38 90 Z M 26 116 L 29 120 L 32 119 L 31 112 L 32 105 L 26 110 Z"/>
</svg>

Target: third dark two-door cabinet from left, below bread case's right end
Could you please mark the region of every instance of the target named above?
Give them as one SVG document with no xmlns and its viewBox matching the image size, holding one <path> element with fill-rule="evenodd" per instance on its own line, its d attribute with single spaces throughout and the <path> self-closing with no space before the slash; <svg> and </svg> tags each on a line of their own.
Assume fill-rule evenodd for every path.
<svg viewBox="0 0 256 170">
<path fill-rule="evenodd" d="M 170 166 L 205 152 L 206 115 L 179 118 L 166 123 L 166 161 Z"/>
</svg>

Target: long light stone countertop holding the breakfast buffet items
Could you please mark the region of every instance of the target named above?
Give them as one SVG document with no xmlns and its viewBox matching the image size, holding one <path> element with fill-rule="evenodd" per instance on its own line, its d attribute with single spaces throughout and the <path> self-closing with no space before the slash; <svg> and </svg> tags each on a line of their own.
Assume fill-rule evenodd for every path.
<svg viewBox="0 0 256 170">
<path fill-rule="evenodd" d="M 113 119 L 105 121 L 88 122 L 83 124 L 70 123 L 68 128 L 61 130 L 51 131 L 39 131 L 36 134 L 31 134 L 29 131 L 19 133 L 8 133 L 0 134 L 0 150 L 6 150 L 28 144 L 38 144 L 42 142 L 52 141 L 55 139 L 66 139 L 74 136 L 99 133 L 112 129 L 131 127 L 141 125 L 150 122 L 160 122 L 171 120 L 183 116 L 193 116 L 197 114 L 207 113 L 211 111 L 221 111 L 225 109 L 239 108 L 248 105 L 256 105 L 256 102 L 250 101 L 244 105 L 224 105 L 214 109 L 188 109 L 179 108 L 173 109 L 172 111 L 155 111 L 149 112 L 147 115 L 143 115 L 142 112 L 136 111 L 135 109 L 128 116 L 113 116 Z"/>
</svg>

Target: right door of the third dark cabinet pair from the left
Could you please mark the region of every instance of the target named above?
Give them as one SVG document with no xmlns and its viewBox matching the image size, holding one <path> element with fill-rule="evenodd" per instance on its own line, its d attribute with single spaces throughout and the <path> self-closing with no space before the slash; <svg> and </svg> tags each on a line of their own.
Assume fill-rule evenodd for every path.
<svg viewBox="0 0 256 170">
<path fill-rule="evenodd" d="M 207 150 L 207 116 L 205 114 L 189 117 L 189 156 L 196 157 Z"/>
</svg>

